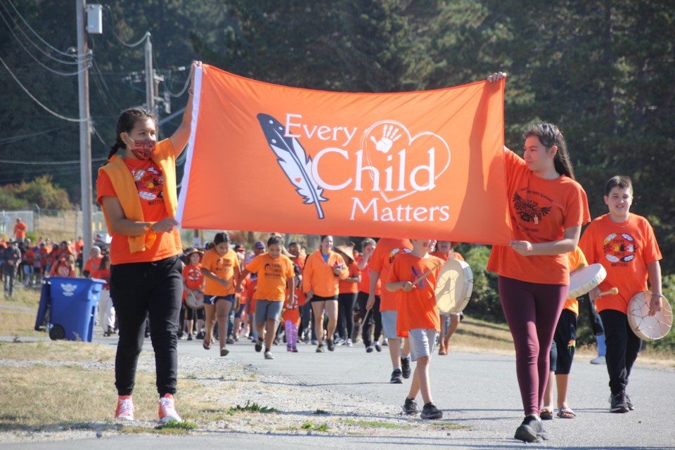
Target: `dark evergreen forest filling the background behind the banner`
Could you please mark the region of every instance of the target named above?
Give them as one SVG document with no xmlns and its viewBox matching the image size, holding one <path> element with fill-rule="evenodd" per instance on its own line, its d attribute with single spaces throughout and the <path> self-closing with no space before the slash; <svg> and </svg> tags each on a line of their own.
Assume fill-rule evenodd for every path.
<svg viewBox="0 0 675 450">
<path fill-rule="evenodd" d="M 0 56 L 43 103 L 77 116 L 77 81 L 46 72 L 13 37 L 18 15 L 2 1 Z M 20 14 L 58 49 L 75 46 L 74 6 L 13 1 Z M 94 158 L 107 155 L 117 113 L 145 101 L 143 46 L 122 46 L 149 31 L 160 83 L 176 93 L 193 58 L 238 75 L 289 86 L 339 91 L 437 89 L 504 70 L 505 141 L 522 146 L 535 121 L 558 124 L 593 217 L 606 212 L 605 180 L 634 179 L 634 212 L 652 221 L 664 255 L 675 250 L 675 8 L 671 0 L 106 0 L 104 32 L 89 37 Z M 30 34 L 30 31 L 27 31 Z M 117 37 L 115 37 L 117 36 Z M 34 39 L 37 41 L 37 39 Z M 46 65 L 64 68 L 37 52 Z M 38 44 L 40 44 L 38 42 Z M 40 44 L 41 45 L 41 44 Z M 44 46 L 42 46 L 44 47 Z M 67 59 L 65 56 L 60 58 Z M 41 110 L 4 68 L 0 142 L 6 159 L 77 160 L 77 124 Z M 185 97 L 174 99 L 172 108 Z M 165 114 L 162 113 L 162 116 Z M 162 131 L 169 134 L 179 118 Z M 49 131 L 51 130 L 51 131 Z M 49 131 L 37 135 L 37 132 Z M 33 135 L 20 141 L 13 136 Z M 96 165 L 100 164 L 97 162 Z M 78 201 L 77 167 L 3 165 L 0 184 L 53 174 Z M 675 271 L 666 256 L 664 272 Z"/>
</svg>

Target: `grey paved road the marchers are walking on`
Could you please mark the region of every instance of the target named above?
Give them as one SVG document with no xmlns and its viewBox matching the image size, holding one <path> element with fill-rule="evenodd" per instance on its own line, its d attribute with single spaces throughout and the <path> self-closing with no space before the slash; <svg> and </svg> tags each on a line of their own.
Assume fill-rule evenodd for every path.
<svg viewBox="0 0 675 450">
<path fill-rule="evenodd" d="M 113 338 L 96 338 L 113 344 Z M 150 347 L 148 346 L 148 351 Z M 338 347 L 333 353 L 316 354 L 314 347 L 302 345 L 300 353 L 288 354 L 276 347 L 276 359 L 265 361 L 248 343 L 230 347 L 228 358 L 252 364 L 262 373 L 281 374 L 297 380 L 307 390 L 327 386 L 336 394 L 351 395 L 356 401 L 402 404 L 409 385 L 390 385 L 389 358 L 383 352 L 366 354 L 364 348 Z M 184 355 L 209 358 L 200 342 L 180 342 Z M 212 357 L 213 350 L 209 356 Z M 84 449 L 510 449 L 522 448 L 513 432 L 522 420 L 520 394 L 515 379 L 513 356 L 452 352 L 436 356 L 431 366 L 432 390 L 444 420 L 464 425 L 443 438 L 399 436 L 337 435 L 249 435 L 222 431 L 195 432 L 187 437 L 105 435 L 101 439 L 70 442 L 32 442 L 4 444 L 2 449 L 84 450 Z M 636 411 L 608 412 L 608 375 L 604 366 L 593 366 L 587 358 L 577 358 L 570 381 L 570 406 L 577 418 L 555 418 L 545 423 L 550 439 L 528 448 L 547 449 L 675 449 L 675 370 L 641 366 L 638 359 L 631 376 L 629 394 Z M 358 410 L 358 406 L 356 407 Z"/>
</svg>

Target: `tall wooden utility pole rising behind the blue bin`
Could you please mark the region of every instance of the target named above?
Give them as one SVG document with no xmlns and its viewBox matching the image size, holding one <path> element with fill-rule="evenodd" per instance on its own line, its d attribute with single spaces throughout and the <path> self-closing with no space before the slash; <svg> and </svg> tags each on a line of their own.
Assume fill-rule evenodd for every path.
<svg viewBox="0 0 675 450">
<path fill-rule="evenodd" d="M 75 0 L 77 9 L 77 86 L 79 89 L 79 176 L 82 193 L 82 259 L 89 257 L 91 249 L 91 133 L 89 117 L 89 70 L 86 45 L 86 24 L 84 11 L 86 0 Z M 77 238 L 77 236 L 75 236 Z"/>
</svg>

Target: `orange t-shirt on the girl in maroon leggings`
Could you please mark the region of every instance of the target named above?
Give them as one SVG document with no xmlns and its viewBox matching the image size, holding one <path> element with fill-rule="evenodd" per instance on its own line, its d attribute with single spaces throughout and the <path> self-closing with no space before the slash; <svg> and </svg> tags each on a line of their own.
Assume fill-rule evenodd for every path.
<svg viewBox="0 0 675 450">
<path fill-rule="evenodd" d="M 543 179 L 512 151 L 504 152 L 508 211 L 514 240 L 546 243 L 562 239 L 565 229 L 591 221 L 589 203 L 581 185 L 561 175 Z M 529 283 L 570 284 L 567 256 L 522 256 L 507 245 L 494 245 L 489 271 Z"/>
</svg>

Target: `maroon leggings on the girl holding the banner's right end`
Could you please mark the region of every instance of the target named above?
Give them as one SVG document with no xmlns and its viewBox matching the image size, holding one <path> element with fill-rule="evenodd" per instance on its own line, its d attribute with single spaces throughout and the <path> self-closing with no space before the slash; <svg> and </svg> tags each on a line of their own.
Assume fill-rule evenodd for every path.
<svg viewBox="0 0 675 450">
<path fill-rule="evenodd" d="M 499 277 L 501 308 L 513 336 L 515 371 L 525 416 L 539 415 L 548 379 L 548 355 L 567 288 Z"/>
</svg>

